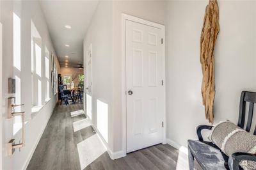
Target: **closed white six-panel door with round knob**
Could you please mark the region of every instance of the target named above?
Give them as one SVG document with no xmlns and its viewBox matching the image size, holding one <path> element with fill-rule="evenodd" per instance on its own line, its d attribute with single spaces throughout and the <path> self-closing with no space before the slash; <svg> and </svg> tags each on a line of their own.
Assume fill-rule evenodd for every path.
<svg viewBox="0 0 256 170">
<path fill-rule="evenodd" d="M 127 153 L 163 143 L 164 30 L 126 20 Z"/>
</svg>

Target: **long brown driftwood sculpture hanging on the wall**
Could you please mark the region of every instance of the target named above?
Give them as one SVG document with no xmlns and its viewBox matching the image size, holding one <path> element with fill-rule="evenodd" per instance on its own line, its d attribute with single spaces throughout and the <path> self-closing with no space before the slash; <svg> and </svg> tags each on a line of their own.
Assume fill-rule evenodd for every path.
<svg viewBox="0 0 256 170">
<path fill-rule="evenodd" d="M 217 0 L 210 0 L 205 9 L 204 26 L 200 40 L 200 61 L 202 64 L 202 98 L 205 118 L 213 123 L 214 87 L 214 45 L 219 33 L 219 8 Z"/>
</svg>

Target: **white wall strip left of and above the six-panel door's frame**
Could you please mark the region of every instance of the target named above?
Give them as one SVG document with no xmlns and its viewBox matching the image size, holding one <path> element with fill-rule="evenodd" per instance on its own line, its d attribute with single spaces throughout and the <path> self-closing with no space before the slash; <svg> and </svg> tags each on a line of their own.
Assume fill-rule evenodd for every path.
<svg viewBox="0 0 256 170">
<path fill-rule="evenodd" d="M 165 1 L 113 1 L 113 151 L 124 149 L 122 134 L 122 13 L 165 25 Z"/>
</svg>

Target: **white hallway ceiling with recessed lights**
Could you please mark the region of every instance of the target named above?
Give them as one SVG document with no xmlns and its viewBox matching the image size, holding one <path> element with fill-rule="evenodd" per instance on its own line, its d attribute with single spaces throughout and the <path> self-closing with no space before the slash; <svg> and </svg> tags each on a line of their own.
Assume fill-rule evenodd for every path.
<svg viewBox="0 0 256 170">
<path fill-rule="evenodd" d="M 98 0 L 40 1 L 60 65 L 83 64 L 83 39 Z M 71 29 L 65 28 L 71 26 Z M 65 44 L 70 47 L 65 47 Z M 68 58 L 65 58 L 68 56 Z"/>
</svg>

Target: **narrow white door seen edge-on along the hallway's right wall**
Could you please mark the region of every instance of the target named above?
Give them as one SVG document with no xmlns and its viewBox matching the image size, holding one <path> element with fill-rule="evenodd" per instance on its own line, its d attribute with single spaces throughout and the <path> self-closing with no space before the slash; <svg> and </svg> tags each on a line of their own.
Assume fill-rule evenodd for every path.
<svg viewBox="0 0 256 170">
<path fill-rule="evenodd" d="M 86 50 L 86 114 L 92 120 L 92 44 Z"/>
</svg>

